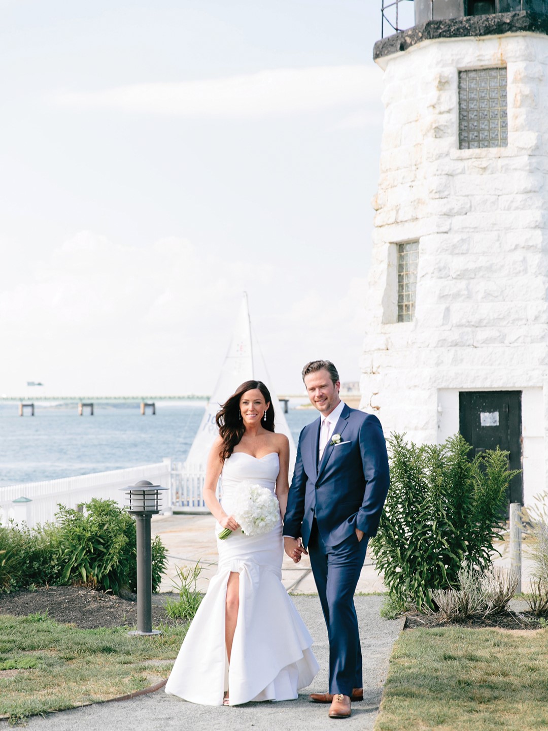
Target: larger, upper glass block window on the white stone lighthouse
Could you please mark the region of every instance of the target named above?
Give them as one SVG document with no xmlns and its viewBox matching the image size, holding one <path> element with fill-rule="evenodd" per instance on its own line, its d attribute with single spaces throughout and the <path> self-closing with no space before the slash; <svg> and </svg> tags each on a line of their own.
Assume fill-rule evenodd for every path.
<svg viewBox="0 0 548 731">
<path fill-rule="evenodd" d="M 460 71 L 460 149 L 507 145 L 506 67 Z"/>
</svg>

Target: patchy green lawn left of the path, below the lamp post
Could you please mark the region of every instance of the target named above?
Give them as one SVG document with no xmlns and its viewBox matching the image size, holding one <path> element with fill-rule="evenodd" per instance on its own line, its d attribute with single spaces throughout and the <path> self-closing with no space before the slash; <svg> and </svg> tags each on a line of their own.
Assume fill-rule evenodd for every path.
<svg viewBox="0 0 548 731">
<path fill-rule="evenodd" d="M 0 716 L 12 721 L 118 697 L 169 675 L 186 625 L 159 637 L 0 616 Z"/>
</svg>

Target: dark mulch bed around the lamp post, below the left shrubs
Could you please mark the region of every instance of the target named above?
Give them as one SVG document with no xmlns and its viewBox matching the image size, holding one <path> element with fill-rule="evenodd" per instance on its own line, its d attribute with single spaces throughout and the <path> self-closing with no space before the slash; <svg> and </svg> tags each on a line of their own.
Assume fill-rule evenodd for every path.
<svg viewBox="0 0 548 731">
<path fill-rule="evenodd" d="M 157 596 L 153 596 L 152 623 L 169 621 Z M 40 612 L 80 629 L 137 626 L 137 601 L 134 595 L 120 596 L 95 591 L 85 586 L 47 586 L 36 591 L 0 594 L 0 614 L 27 616 Z"/>
</svg>

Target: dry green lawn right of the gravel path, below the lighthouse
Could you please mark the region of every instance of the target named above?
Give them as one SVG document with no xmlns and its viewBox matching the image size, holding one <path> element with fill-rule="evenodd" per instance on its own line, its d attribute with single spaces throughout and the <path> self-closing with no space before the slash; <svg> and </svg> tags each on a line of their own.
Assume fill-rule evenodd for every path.
<svg viewBox="0 0 548 731">
<path fill-rule="evenodd" d="M 390 660 L 376 731 L 548 727 L 548 629 L 413 629 Z"/>
</svg>

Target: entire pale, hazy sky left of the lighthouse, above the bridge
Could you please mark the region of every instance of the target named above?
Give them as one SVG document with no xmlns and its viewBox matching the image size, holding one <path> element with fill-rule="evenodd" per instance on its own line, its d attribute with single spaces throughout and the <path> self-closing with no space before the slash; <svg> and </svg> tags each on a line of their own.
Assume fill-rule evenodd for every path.
<svg viewBox="0 0 548 731">
<path fill-rule="evenodd" d="M 0 0 L 0 395 L 211 393 L 243 291 L 359 380 L 380 7 Z"/>
</svg>

